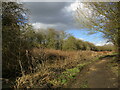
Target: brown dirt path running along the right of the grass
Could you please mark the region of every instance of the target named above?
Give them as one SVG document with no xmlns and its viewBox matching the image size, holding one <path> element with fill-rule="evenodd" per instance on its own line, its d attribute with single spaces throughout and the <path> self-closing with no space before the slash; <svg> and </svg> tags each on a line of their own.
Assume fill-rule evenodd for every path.
<svg viewBox="0 0 120 90">
<path fill-rule="evenodd" d="M 90 65 L 83 70 L 67 87 L 118 88 L 118 77 L 113 74 L 110 68 L 107 66 L 109 61 L 109 58 L 104 58 Z"/>
</svg>

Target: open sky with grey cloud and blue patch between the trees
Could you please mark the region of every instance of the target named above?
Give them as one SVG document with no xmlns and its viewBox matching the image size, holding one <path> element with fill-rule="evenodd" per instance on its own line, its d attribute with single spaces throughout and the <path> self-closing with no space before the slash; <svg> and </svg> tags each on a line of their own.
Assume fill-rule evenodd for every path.
<svg viewBox="0 0 120 90">
<path fill-rule="evenodd" d="M 30 12 L 29 22 L 34 28 L 55 28 L 65 30 L 78 39 L 89 41 L 95 45 L 104 45 L 106 39 L 102 33 L 88 35 L 86 28 L 79 28 L 75 22 L 74 12 L 77 8 L 76 2 L 24 2 L 24 7 Z"/>
</svg>

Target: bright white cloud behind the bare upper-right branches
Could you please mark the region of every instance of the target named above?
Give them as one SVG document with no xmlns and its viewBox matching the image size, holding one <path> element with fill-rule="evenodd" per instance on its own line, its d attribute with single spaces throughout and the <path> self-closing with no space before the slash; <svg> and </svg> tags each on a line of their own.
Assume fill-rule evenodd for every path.
<svg viewBox="0 0 120 90">
<path fill-rule="evenodd" d="M 76 26 L 79 28 L 84 28 L 83 23 L 90 23 L 88 18 L 94 20 L 92 8 L 86 7 L 86 4 L 76 0 L 69 6 L 64 7 L 64 12 L 70 13 L 74 19 L 78 18 L 78 23 L 75 22 Z M 87 17 L 87 18 L 86 18 Z M 81 24 L 80 24 L 81 23 Z"/>
</svg>

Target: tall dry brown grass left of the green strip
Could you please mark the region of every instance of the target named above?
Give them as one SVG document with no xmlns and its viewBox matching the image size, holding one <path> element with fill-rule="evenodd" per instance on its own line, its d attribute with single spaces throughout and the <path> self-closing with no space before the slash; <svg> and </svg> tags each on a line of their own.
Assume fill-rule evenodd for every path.
<svg viewBox="0 0 120 90">
<path fill-rule="evenodd" d="M 59 76 L 66 69 L 73 68 L 78 64 L 94 60 L 103 55 L 94 51 L 60 51 L 53 49 L 33 49 L 34 61 L 41 60 L 36 64 L 36 72 L 16 80 L 15 88 L 40 88 L 48 87 L 50 81 Z M 48 86 L 47 86 L 48 85 Z"/>
</svg>

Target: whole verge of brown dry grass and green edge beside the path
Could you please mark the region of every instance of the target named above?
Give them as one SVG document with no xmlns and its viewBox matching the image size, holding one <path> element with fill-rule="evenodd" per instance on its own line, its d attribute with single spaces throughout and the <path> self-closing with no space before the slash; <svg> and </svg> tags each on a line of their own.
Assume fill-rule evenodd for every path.
<svg viewBox="0 0 120 90">
<path fill-rule="evenodd" d="M 44 53 L 45 52 L 45 53 Z M 102 56 L 93 51 L 71 51 L 44 50 L 45 55 L 39 55 L 36 51 L 37 60 L 46 60 L 42 64 L 36 63 L 36 72 L 18 77 L 15 88 L 43 88 L 63 87 L 82 69 L 99 60 Z"/>
</svg>

